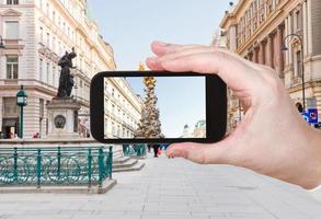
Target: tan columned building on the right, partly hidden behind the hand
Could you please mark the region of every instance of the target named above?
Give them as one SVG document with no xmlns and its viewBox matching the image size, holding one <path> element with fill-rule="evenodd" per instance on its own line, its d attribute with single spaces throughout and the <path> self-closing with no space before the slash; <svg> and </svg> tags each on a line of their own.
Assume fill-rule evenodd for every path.
<svg viewBox="0 0 321 219">
<path fill-rule="evenodd" d="M 220 27 L 229 49 L 276 70 L 295 103 L 303 102 L 303 78 L 306 108 L 317 107 L 321 116 L 321 1 L 240 0 L 226 12 Z M 287 37 L 294 34 L 302 44 L 298 37 Z M 242 110 L 231 92 L 230 96 L 233 127 Z"/>
</svg>

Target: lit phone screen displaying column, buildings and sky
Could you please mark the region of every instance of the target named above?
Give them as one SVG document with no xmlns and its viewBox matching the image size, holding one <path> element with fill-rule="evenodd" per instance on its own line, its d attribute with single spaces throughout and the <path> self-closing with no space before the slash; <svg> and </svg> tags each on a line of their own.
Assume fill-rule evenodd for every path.
<svg viewBox="0 0 321 219">
<path fill-rule="evenodd" d="M 206 138 L 206 77 L 105 77 L 104 139 Z"/>
</svg>

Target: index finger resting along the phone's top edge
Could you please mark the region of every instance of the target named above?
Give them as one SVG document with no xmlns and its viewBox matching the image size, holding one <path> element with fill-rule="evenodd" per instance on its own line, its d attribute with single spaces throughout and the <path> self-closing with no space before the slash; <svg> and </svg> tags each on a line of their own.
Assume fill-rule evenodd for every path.
<svg viewBox="0 0 321 219">
<path fill-rule="evenodd" d="M 256 70 L 222 51 L 195 53 L 173 59 L 149 58 L 147 64 L 158 70 L 216 73 L 236 92 L 256 90 L 261 82 Z"/>
</svg>

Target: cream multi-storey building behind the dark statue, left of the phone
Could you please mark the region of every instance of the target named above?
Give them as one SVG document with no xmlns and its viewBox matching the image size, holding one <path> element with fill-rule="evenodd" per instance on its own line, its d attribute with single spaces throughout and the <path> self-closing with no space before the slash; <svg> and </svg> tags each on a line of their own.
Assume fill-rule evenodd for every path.
<svg viewBox="0 0 321 219">
<path fill-rule="evenodd" d="M 46 105 L 57 93 L 58 59 L 74 47 L 72 95 L 81 103 L 81 130 L 88 131 L 90 80 L 99 71 L 116 68 L 112 47 L 88 18 L 85 0 L 0 0 L 0 130 L 18 132 L 15 95 L 24 85 L 24 137 L 48 131 Z M 87 124 L 87 125 L 85 125 Z"/>
</svg>

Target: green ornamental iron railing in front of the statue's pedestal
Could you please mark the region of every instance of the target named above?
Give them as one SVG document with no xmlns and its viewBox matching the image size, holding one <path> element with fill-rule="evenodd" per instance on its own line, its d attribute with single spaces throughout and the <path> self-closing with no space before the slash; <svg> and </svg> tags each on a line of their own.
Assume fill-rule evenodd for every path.
<svg viewBox="0 0 321 219">
<path fill-rule="evenodd" d="M 0 148 L 0 186 L 102 186 L 112 169 L 112 147 Z"/>
</svg>

